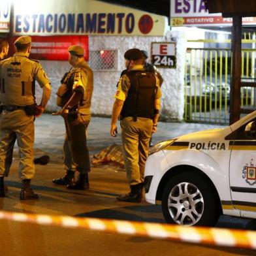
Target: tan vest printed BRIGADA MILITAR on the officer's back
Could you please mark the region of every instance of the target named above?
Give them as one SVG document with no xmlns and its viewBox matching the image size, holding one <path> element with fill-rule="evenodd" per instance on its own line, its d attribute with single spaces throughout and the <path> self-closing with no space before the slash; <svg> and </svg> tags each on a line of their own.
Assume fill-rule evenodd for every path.
<svg viewBox="0 0 256 256">
<path fill-rule="evenodd" d="M 1 63 L 0 101 L 2 104 L 27 105 L 35 103 L 33 61 L 10 57 Z"/>
</svg>

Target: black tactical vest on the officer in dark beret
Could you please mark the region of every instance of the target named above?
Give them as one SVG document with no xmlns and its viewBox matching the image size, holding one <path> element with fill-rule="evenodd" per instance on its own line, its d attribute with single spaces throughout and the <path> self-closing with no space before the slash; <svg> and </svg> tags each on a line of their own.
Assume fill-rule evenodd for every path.
<svg viewBox="0 0 256 256">
<path fill-rule="evenodd" d="M 121 118 L 133 116 L 134 118 L 153 118 L 156 79 L 152 72 L 129 71 L 126 73 L 131 87 L 123 103 Z"/>
</svg>

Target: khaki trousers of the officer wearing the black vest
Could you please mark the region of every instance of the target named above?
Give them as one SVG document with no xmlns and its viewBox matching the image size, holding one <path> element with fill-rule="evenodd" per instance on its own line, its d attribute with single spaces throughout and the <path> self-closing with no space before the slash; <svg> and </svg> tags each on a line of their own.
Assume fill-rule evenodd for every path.
<svg viewBox="0 0 256 256">
<path fill-rule="evenodd" d="M 144 168 L 153 121 L 149 118 L 127 117 L 121 120 L 121 139 L 127 179 L 130 185 L 144 182 Z"/>
</svg>

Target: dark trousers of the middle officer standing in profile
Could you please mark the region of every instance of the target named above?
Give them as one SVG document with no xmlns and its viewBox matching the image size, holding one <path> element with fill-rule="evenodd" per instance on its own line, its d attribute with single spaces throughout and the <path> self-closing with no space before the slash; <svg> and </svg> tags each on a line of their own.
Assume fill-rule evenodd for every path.
<svg viewBox="0 0 256 256">
<path fill-rule="evenodd" d="M 66 170 L 78 170 L 81 174 L 90 171 L 86 139 L 90 118 L 90 115 L 81 114 L 69 114 L 64 118 L 66 135 L 63 144 L 63 157 Z"/>
</svg>

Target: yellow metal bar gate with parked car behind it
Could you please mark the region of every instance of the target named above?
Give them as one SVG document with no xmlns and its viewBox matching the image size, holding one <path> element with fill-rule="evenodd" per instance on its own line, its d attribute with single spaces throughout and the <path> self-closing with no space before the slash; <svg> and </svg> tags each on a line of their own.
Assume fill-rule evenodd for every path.
<svg viewBox="0 0 256 256">
<path fill-rule="evenodd" d="M 255 53 L 254 49 L 242 49 L 242 78 L 248 82 L 255 79 Z M 229 123 L 231 63 L 232 54 L 228 48 L 187 48 L 185 121 Z M 241 88 L 241 107 L 256 106 L 255 98 L 255 88 Z"/>
</svg>

